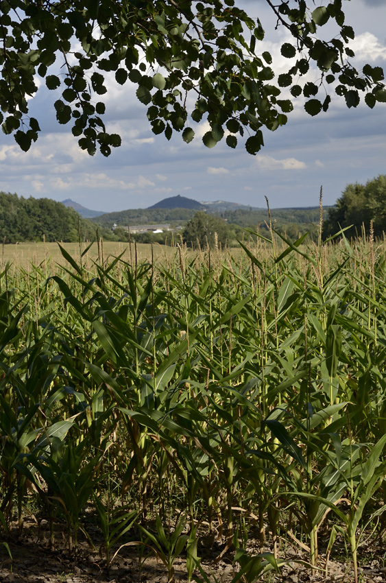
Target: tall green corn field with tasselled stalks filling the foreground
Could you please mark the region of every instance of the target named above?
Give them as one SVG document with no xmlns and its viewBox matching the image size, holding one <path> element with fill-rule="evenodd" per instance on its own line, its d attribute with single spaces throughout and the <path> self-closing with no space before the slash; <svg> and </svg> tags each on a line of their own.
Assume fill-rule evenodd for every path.
<svg viewBox="0 0 386 583">
<path fill-rule="evenodd" d="M 69 552 L 93 520 L 106 568 L 136 545 L 208 583 L 205 536 L 253 583 L 282 540 L 328 573 L 338 538 L 357 583 L 385 527 L 386 244 L 341 237 L 3 265 L 4 547 L 34 508 Z"/>
</svg>

